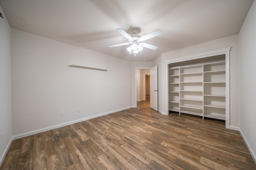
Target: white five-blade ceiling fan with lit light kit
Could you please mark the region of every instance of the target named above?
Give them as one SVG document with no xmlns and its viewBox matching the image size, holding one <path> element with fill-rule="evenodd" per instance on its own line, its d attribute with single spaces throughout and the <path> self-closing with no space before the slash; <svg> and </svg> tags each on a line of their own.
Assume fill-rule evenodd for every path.
<svg viewBox="0 0 256 170">
<path fill-rule="evenodd" d="M 143 49 L 143 47 L 152 49 L 152 50 L 156 50 L 158 47 L 156 47 L 154 45 L 147 44 L 147 43 L 143 43 L 143 41 L 162 34 L 162 31 L 160 29 L 156 29 L 155 31 L 148 33 L 147 35 L 144 35 L 142 37 L 140 37 L 140 35 L 137 34 L 138 29 L 132 29 L 132 35 L 129 35 L 128 33 L 126 33 L 126 31 L 124 31 L 124 29 L 122 29 L 122 28 L 118 28 L 118 29 L 116 29 L 116 31 L 118 31 L 120 34 L 124 35 L 124 37 L 126 37 L 129 40 L 129 42 L 122 43 L 122 44 L 116 44 L 116 45 L 110 45 L 108 47 L 117 47 L 117 46 L 121 46 L 121 45 L 132 44 L 127 48 L 127 50 L 130 52 L 129 54 L 134 54 L 134 56 L 139 51 L 141 51 Z"/>
</svg>

